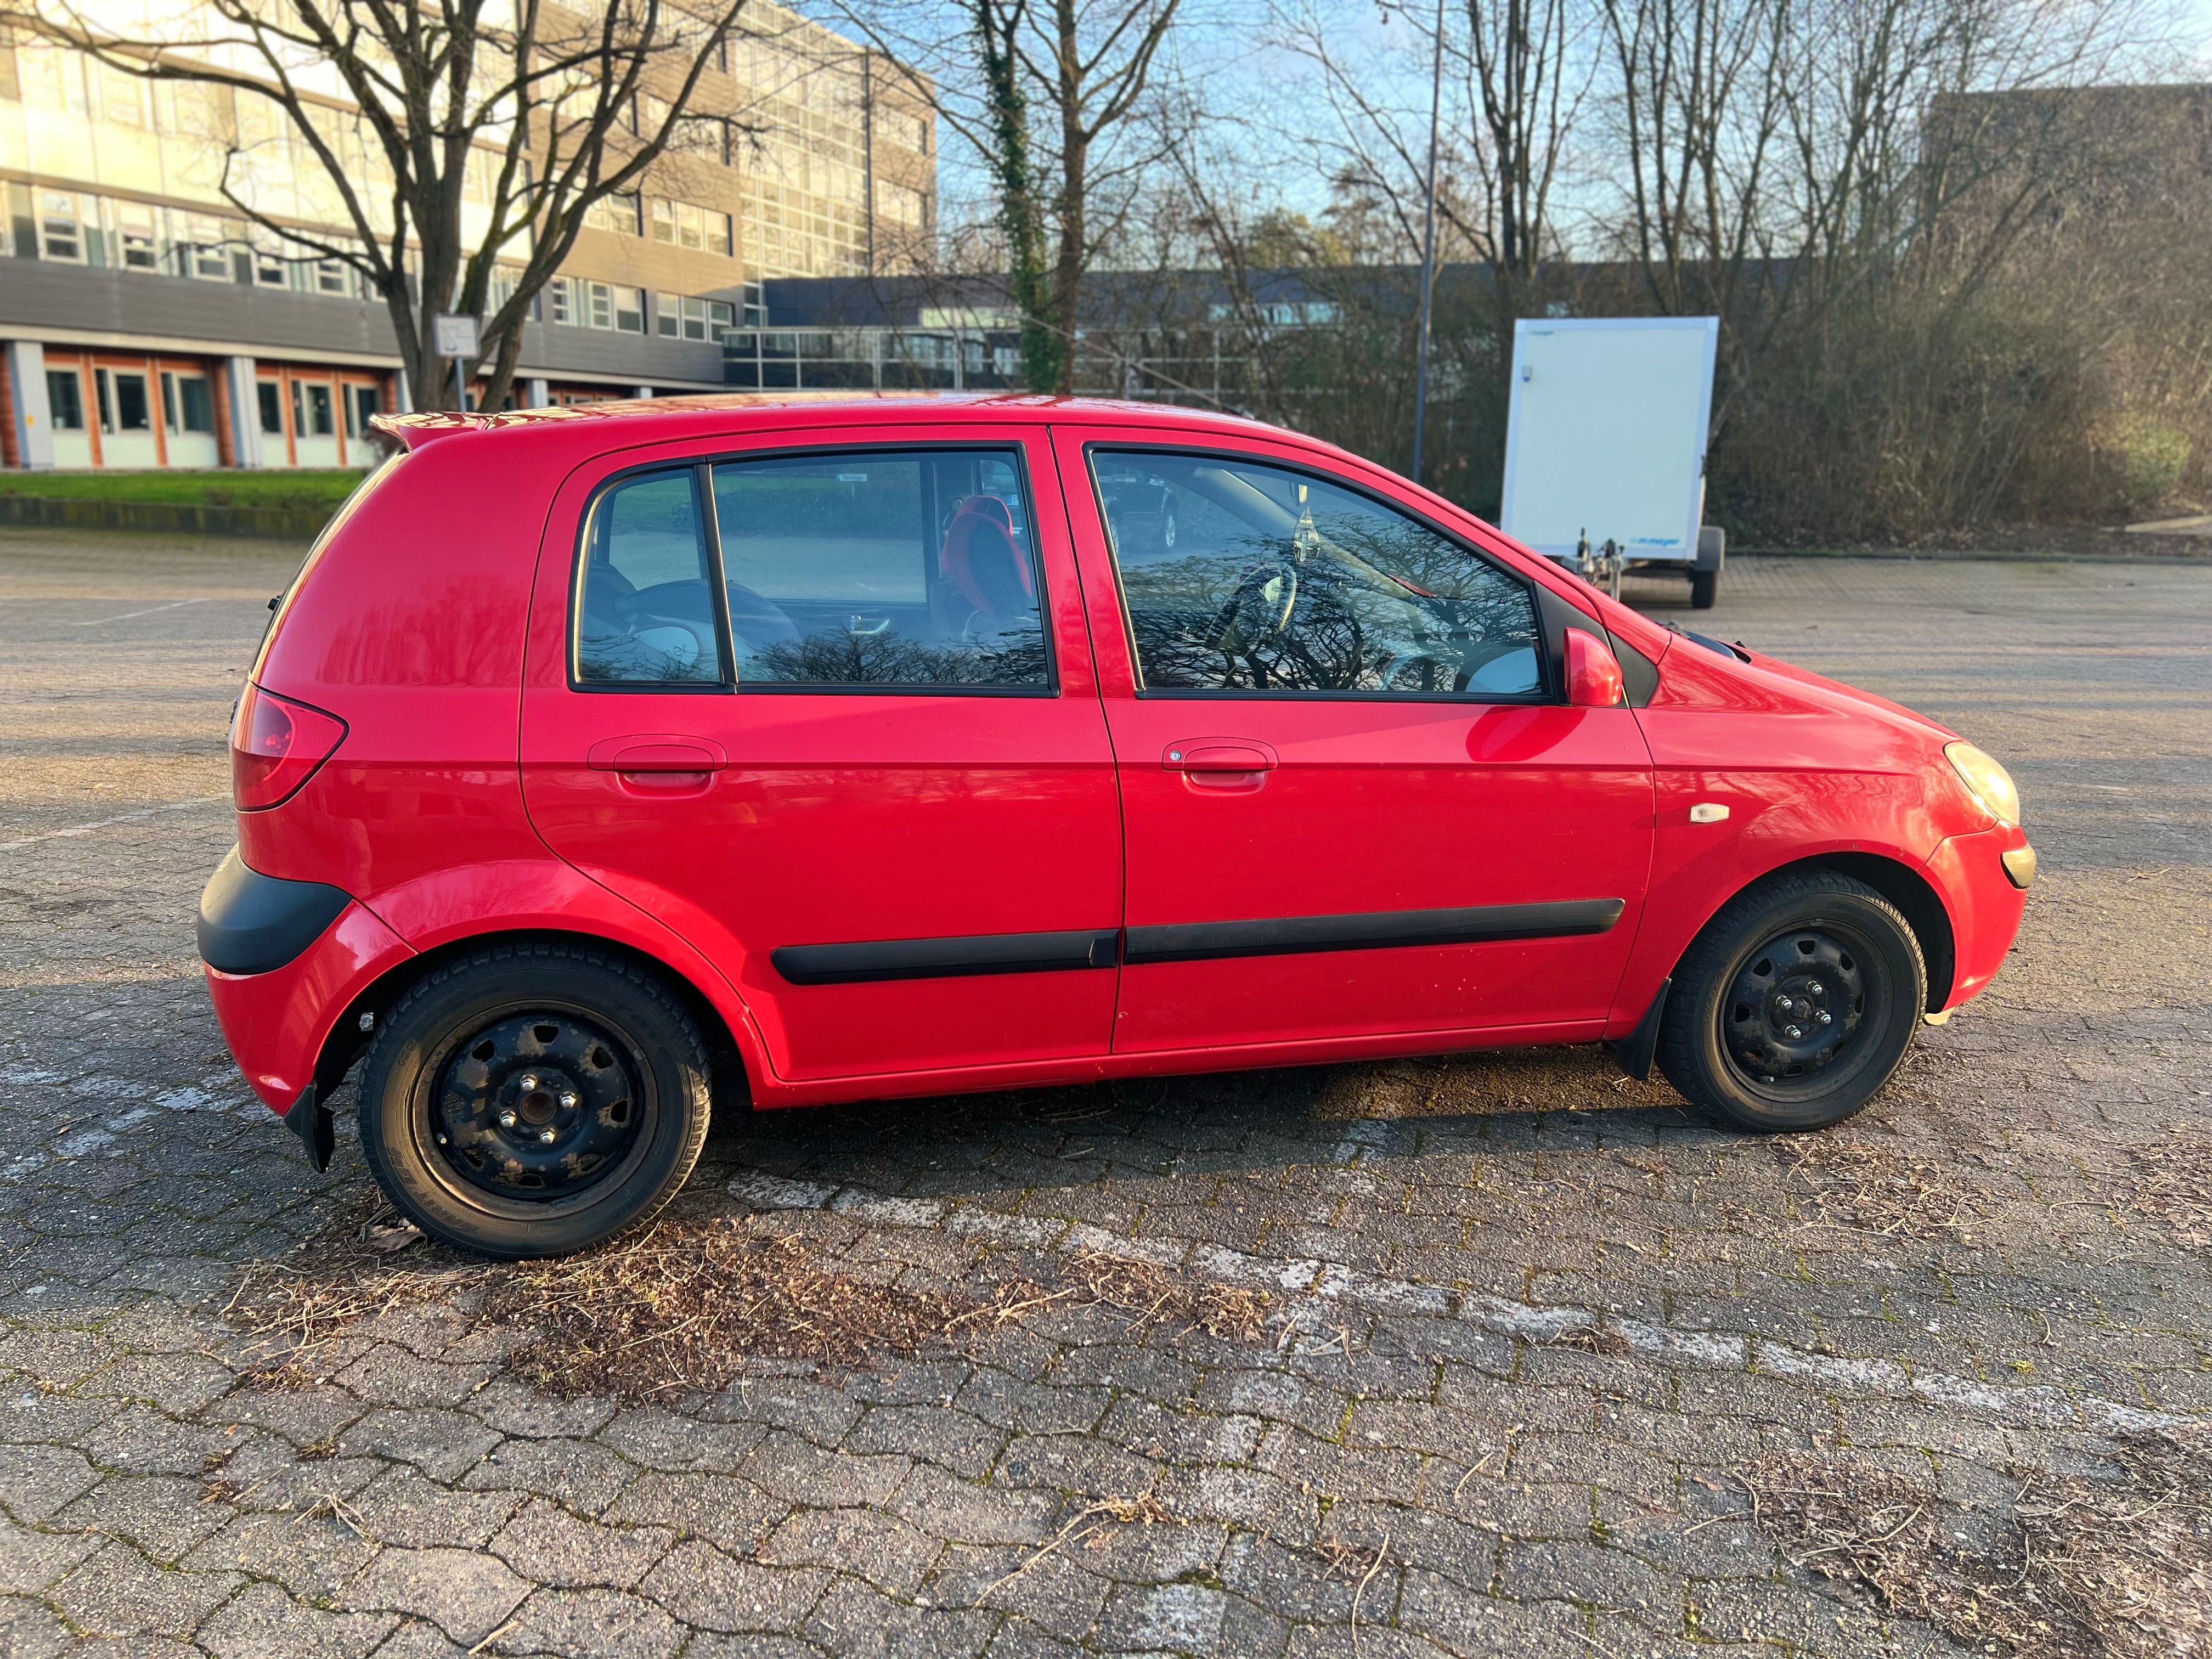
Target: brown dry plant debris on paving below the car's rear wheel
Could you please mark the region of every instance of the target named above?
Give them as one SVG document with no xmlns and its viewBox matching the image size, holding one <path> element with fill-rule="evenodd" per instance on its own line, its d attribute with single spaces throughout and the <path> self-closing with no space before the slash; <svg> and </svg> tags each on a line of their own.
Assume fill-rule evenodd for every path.
<svg viewBox="0 0 2212 1659">
<path fill-rule="evenodd" d="M 513 1334 L 507 1365 L 533 1387 L 622 1400 L 714 1394 L 757 1360 L 849 1369 L 951 1349 L 1046 1310 L 1106 1310 L 1139 1338 L 1168 1340 L 1252 1343 L 1265 1321 L 1265 1292 L 1146 1261 L 1086 1250 L 1057 1276 L 1057 1287 L 1020 1279 L 980 1296 L 889 1285 L 838 1270 L 796 1234 L 768 1239 L 734 1221 L 661 1221 L 580 1256 L 487 1265 L 396 1241 L 387 1212 L 356 1212 L 248 1270 L 228 1318 L 243 1332 L 248 1378 L 268 1389 L 312 1387 L 376 1321 L 436 1307 L 456 1336 L 471 1325 Z"/>
</svg>

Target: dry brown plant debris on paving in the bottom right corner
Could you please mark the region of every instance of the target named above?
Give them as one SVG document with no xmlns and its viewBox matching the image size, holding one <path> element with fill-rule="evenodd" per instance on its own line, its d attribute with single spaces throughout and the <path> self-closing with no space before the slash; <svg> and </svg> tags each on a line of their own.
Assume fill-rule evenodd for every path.
<svg viewBox="0 0 2212 1659">
<path fill-rule="evenodd" d="M 2130 1436 L 2117 1462 L 2115 1482 L 2015 1471 L 2026 1484 L 2013 1513 L 1995 1517 L 1971 1517 L 1885 1469 L 1809 1458 L 1770 1458 L 1745 1489 L 1792 1562 L 1978 1652 L 2208 1652 L 2212 1436 Z M 1975 1533 L 1980 1544 L 1962 1542 Z"/>
</svg>

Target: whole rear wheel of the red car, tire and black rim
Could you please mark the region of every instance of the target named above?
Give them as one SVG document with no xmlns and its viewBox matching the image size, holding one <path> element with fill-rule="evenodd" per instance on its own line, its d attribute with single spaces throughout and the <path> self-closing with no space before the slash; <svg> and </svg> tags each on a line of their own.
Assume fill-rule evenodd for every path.
<svg viewBox="0 0 2212 1659">
<path fill-rule="evenodd" d="M 708 1128 L 697 1022 L 582 945 L 495 945 L 422 975 L 361 1071 L 361 1150 L 431 1239 L 520 1261 L 653 1219 Z"/>
</svg>

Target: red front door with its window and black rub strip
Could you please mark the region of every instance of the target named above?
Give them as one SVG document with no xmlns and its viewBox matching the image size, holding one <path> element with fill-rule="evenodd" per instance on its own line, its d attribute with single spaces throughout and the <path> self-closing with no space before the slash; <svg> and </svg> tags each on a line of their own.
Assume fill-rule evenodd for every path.
<svg viewBox="0 0 2212 1659">
<path fill-rule="evenodd" d="M 1652 781 L 1628 708 L 1562 697 L 1582 613 L 1290 447 L 1055 445 L 1121 776 L 1115 1048 L 1595 1037 Z"/>
</svg>

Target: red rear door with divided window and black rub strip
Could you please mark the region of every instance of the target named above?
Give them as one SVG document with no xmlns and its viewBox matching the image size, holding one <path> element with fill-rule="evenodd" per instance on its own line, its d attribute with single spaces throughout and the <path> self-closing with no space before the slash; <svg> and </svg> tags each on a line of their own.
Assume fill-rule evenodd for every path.
<svg viewBox="0 0 2212 1659">
<path fill-rule="evenodd" d="M 1104 1053 L 1121 841 L 1075 595 L 1042 429 L 586 469 L 540 560 L 531 821 L 723 967 L 785 1079 Z"/>
</svg>

